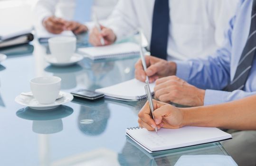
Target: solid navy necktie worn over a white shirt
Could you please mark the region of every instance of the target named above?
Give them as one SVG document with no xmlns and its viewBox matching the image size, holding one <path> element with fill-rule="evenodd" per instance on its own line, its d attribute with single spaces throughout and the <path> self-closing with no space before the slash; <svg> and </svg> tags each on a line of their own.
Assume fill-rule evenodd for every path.
<svg viewBox="0 0 256 166">
<path fill-rule="evenodd" d="M 162 59 L 167 58 L 167 42 L 170 22 L 169 13 L 169 0 L 155 0 L 150 52 L 151 55 Z"/>
</svg>

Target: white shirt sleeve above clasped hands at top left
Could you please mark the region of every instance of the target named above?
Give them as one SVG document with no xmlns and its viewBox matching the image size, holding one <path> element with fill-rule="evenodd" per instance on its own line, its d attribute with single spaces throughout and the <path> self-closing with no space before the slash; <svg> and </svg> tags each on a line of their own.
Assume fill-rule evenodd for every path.
<svg viewBox="0 0 256 166">
<path fill-rule="evenodd" d="M 55 14 L 55 7 L 59 0 L 38 0 L 35 8 L 35 26 L 41 26 L 44 18 Z"/>
</svg>

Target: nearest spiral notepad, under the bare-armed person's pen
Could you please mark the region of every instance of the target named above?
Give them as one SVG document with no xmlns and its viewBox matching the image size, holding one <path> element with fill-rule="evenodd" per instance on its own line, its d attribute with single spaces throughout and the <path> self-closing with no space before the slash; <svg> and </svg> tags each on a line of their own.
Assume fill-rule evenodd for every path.
<svg viewBox="0 0 256 166">
<path fill-rule="evenodd" d="M 140 127 L 126 129 L 126 135 L 149 153 L 183 148 L 231 139 L 217 128 L 185 126 L 180 129 L 160 129 L 158 133 Z"/>
</svg>

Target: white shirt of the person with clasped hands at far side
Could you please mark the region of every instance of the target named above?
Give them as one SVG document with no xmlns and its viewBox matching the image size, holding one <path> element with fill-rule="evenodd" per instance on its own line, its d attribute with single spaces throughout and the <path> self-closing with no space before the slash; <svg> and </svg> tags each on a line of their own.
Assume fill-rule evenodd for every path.
<svg viewBox="0 0 256 166">
<path fill-rule="evenodd" d="M 118 0 L 94 0 L 91 12 L 96 13 L 98 19 L 105 19 L 111 14 L 117 1 Z M 76 0 L 38 0 L 34 9 L 36 24 L 41 25 L 44 18 L 52 15 L 72 20 L 76 5 Z"/>
</svg>

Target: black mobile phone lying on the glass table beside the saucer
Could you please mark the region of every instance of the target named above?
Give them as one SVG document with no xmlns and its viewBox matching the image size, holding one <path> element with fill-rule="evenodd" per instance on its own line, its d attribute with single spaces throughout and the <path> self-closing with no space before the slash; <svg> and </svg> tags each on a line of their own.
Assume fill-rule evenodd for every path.
<svg viewBox="0 0 256 166">
<path fill-rule="evenodd" d="M 76 91 L 71 92 L 73 96 L 85 98 L 89 100 L 96 100 L 103 98 L 105 95 L 103 93 L 94 92 L 94 91 L 88 91 L 86 89 L 79 89 Z"/>
</svg>

